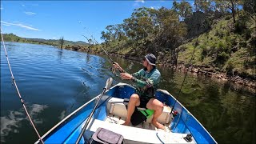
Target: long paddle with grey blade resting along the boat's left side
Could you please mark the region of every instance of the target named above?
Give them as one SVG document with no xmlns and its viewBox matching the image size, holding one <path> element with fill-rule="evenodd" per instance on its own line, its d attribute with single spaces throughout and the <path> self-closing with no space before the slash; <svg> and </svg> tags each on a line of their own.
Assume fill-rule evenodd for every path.
<svg viewBox="0 0 256 144">
<path fill-rule="evenodd" d="M 87 118 L 86 124 L 83 126 L 82 131 L 81 131 L 81 133 L 79 134 L 77 141 L 75 142 L 76 144 L 78 144 L 78 143 L 80 142 L 80 140 L 81 140 L 81 138 L 82 138 L 82 134 L 84 134 L 84 132 L 86 131 L 86 127 L 88 126 L 88 124 L 89 124 L 89 122 L 90 122 L 90 119 L 91 119 L 92 116 L 94 115 L 94 111 L 96 110 L 99 101 L 102 99 L 102 95 L 106 92 L 106 90 L 109 90 L 109 89 L 110 89 L 110 86 L 112 85 L 112 82 L 113 82 L 113 78 L 108 78 L 108 79 L 106 80 L 106 86 L 104 87 L 104 89 L 103 89 L 103 91 L 102 91 L 102 94 L 99 96 L 98 101 L 97 101 L 97 103 L 96 103 L 95 106 L 94 106 L 94 109 L 93 109 L 93 110 L 91 111 L 91 113 L 90 113 L 90 116 Z"/>
</svg>

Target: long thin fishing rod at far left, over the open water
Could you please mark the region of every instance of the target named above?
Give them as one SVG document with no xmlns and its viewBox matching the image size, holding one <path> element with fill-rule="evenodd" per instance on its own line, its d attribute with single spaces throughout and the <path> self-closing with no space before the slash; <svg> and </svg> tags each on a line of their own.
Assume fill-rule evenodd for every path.
<svg viewBox="0 0 256 144">
<path fill-rule="evenodd" d="M 18 97 L 19 97 L 19 99 L 20 99 L 21 102 L 22 102 L 22 106 L 23 106 L 24 110 L 26 111 L 26 115 L 27 115 L 27 117 L 30 119 L 31 125 L 34 127 L 35 132 L 38 134 L 38 138 L 40 139 L 40 141 L 41 141 L 42 143 L 44 143 L 44 142 L 42 141 L 42 138 L 41 138 L 40 134 L 38 133 L 37 128 L 34 126 L 34 122 L 33 122 L 32 119 L 30 118 L 30 114 L 27 112 L 27 110 L 26 110 L 26 105 L 25 105 L 25 103 L 24 103 L 24 101 L 23 101 L 23 99 L 22 99 L 21 94 L 19 93 L 18 86 L 17 86 L 16 81 L 15 81 L 15 79 L 14 79 L 14 74 L 13 74 L 13 72 L 12 72 L 12 70 L 11 70 L 11 67 L 10 67 L 10 62 L 9 62 L 9 58 L 8 58 L 8 55 L 7 55 L 7 52 L 6 52 L 5 42 L 3 41 L 2 28 L 1 28 L 1 27 L 0 27 L 0 31 L 1 31 L 1 36 L 2 36 L 2 45 L 3 45 L 3 48 L 4 48 L 4 50 L 5 50 L 6 59 L 7 59 L 7 62 L 8 62 L 8 66 L 9 66 L 9 70 L 10 70 L 11 79 L 13 80 L 12 82 L 14 83 L 14 86 L 15 86 L 16 91 L 17 91 L 17 93 L 18 93 Z"/>
</svg>

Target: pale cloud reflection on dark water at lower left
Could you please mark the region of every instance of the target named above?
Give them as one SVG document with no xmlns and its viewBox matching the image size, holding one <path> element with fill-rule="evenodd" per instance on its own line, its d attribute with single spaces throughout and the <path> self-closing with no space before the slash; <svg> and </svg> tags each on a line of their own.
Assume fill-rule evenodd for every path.
<svg viewBox="0 0 256 144">
<path fill-rule="evenodd" d="M 48 106 L 33 104 L 28 106 L 30 118 L 33 119 L 34 124 L 42 124 L 42 118 L 38 118 L 44 109 Z M 20 109 L 18 111 L 11 110 L 9 114 L 1 117 L 1 142 L 6 142 L 5 137 L 8 136 L 10 132 L 19 133 L 19 128 L 22 126 L 22 121 L 26 120 L 29 122 L 29 118 L 25 115 L 25 111 Z"/>
</svg>

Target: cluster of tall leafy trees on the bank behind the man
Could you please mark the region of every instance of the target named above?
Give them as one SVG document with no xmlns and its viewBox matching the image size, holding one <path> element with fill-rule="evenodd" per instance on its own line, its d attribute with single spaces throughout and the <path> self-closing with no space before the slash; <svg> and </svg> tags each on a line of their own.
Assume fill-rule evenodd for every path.
<svg viewBox="0 0 256 144">
<path fill-rule="evenodd" d="M 138 8 L 122 24 L 106 26 L 106 31 L 102 31 L 102 39 L 106 43 L 128 40 L 135 47 L 151 47 L 155 53 L 170 50 L 171 59 L 176 63 L 176 49 L 186 36 L 186 24 L 180 22 L 180 17 L 186 18 L 190 14 L 192 8 L 185 1 L 176 3 L 174 9 Z"/>
</svg>

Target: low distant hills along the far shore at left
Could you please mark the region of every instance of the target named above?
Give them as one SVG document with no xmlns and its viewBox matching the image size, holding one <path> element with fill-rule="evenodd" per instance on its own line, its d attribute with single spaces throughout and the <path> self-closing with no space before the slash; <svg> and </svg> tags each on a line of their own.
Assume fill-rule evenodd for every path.
<svg viewBox="0 0 256 144">
<path fill-rule="evenodd" d="M 25 43 L 36 43 L 36 44 L 44 44 L 44 45 L 52 45 L 52 46 L 59 46 L 59 43 L 60 43 L 58 39 L 21 38 L 12 33 L 3 34 L 3 38 L 4 38 L 4 41 L 6 42 L 25 42 Z M 64 46 L 75 46 L 75 45 L 87 46 L 89 44 L 82 41 L 73 42 L 73 41 L 64 40 Z"/>
</svg>

